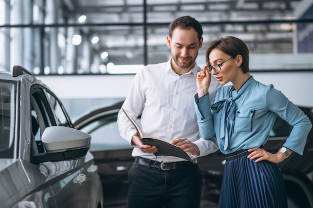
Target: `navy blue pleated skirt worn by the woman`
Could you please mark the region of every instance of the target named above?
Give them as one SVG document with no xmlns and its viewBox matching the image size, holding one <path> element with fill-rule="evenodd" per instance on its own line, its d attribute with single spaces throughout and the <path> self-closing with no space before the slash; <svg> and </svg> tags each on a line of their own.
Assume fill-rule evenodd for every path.
<svg viewBox="0 0 313 208">
<path fill-rule="evenodd" d="M 282 175 L 276 164 L 247 158 L 225 164 L 218 208 L 287 208 Z"/>
</svg>

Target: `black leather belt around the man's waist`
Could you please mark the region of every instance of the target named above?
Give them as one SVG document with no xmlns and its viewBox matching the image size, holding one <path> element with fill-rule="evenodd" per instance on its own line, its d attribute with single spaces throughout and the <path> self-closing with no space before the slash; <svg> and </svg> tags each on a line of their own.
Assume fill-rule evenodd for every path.
<svg viewBox="0 0 313 208">
<path fill-rule="evenodd" d="M 163 171 L 169 171 L 169 170 L 179 170 L 179 169 L 186 169 L 190 168 L 190 166 L 194 165 L 196 162 L 192 163 L 189 161 L 180 161 L 180 162 L 174 162 L 174 163 L 167 163 L 167 162 L 157 162 L 153 160 L 149 160 L 146 158 L 136 157 L 135 163 L 146 166 L 148 168 L 157 168 Z"/>
</svg>

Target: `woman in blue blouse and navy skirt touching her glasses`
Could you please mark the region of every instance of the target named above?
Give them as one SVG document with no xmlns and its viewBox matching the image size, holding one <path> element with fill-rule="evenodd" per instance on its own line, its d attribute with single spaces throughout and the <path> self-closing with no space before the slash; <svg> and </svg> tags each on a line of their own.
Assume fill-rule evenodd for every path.
<svg viewBox="0 0 313 208">
<path fill-rule="evenodd" d="M 302 155 L 312 125 L 307 116 L 273 85 L 249 74 L 246 44 L 232 36 L 211 42 L 203 71 L 197 73 L 195 110 L 200 135 L 216 136 L 226 155 L 219 208 L 287 208 L 284 182 L 276 163 L 292 152 Z M 211 75 L 222 86 L 209 109 Z M 271 154 L 262 149 L 280 116 L 293 126 L 283 147 Z"/>
</svg>

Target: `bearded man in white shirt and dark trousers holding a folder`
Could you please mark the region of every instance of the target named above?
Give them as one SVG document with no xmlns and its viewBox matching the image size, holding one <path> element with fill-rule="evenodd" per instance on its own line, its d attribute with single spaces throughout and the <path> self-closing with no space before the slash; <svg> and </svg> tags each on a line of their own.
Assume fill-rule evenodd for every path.
<svg viewBox="0 0 313 208">
<path fill-rule="evenodd" d="M 141 115 L 145 135 L 180 147 L 193 162 L 155 157 L 157 147 L 144 145 L 123 111 L 119 111 L 120 135 L 134 147 L 135 157 L 128 173 L 128 208 L 198 208 L 202 177 L 196 157 L 217 150 L 215 143 L 199 138 L 193 106 L 196 74 L 201 70 L 195 62 L 203 41 L 201 24 L 190 16 L 179 17 L 170 23 L 166 40 L 171 59 L 139 71 L 122 108 L 133 120 Z M 210 96 L 214 97 L 219 87 L 212 77 Z"/>
</svg>

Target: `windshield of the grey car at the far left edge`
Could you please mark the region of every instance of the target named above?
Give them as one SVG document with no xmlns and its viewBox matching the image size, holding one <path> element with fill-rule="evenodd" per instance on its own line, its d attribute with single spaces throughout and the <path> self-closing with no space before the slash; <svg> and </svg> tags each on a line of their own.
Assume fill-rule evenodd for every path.
<svg viewBox="0 0 313 208">
<path fill-rule="evenodd" d="M 15 118 L 15 85 L 0 80 L 0 157 L 12 158 Z"/>
</svg>

